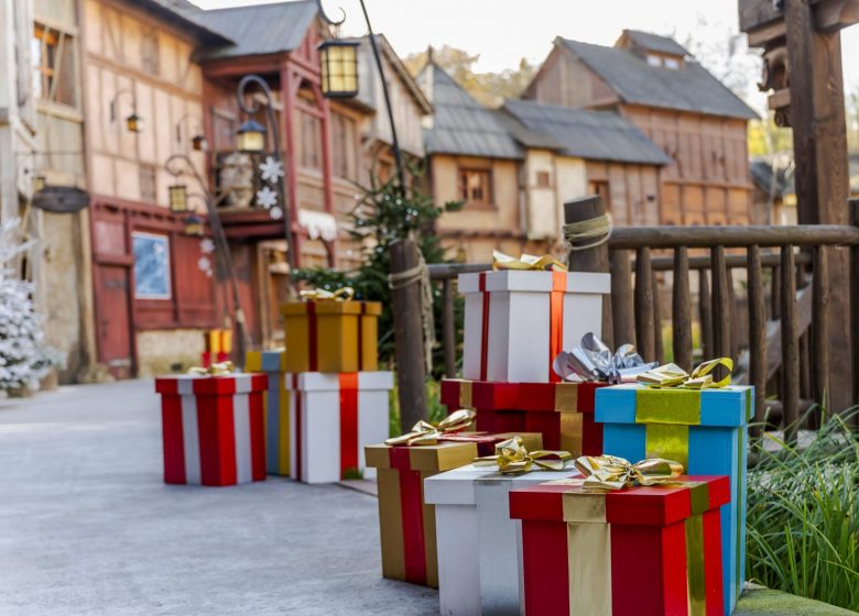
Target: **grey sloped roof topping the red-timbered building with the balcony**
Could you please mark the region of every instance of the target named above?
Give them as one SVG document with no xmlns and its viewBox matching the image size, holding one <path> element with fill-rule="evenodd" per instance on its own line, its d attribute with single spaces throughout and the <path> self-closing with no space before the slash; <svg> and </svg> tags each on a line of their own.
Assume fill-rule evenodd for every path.
<svg viewBox="0 0 859 616">
<path fill-rule="evenodd" d="M 161 0 L 166 1 L 166 0 Z M 235 44 L 203 54 L 206 59 L 286 53 L 304 40 L 316 18 L 314 0 L 200 11 L 200 21 Z"/>
</svg>

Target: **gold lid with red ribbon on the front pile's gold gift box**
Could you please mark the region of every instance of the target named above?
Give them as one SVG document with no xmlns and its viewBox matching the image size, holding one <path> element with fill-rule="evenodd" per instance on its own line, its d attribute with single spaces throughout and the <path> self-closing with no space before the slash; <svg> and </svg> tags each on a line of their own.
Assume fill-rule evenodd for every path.
<svg viewBox="0 0 859 616">
<path fill-rule="evenodd" d="M 477 444 L 449 441 L 416 447 L 370 444 L 363 452 L 370 468 L 437 473 L 470 464 L 477 458 Z"/>
</svg>

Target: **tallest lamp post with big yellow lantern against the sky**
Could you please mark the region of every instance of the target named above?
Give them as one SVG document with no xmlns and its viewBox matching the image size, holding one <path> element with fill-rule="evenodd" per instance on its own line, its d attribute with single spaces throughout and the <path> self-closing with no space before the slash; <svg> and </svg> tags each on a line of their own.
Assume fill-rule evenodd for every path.
<svg viewBox="0 0 859 616">
<path fill-rule="evenodd" d="M 379 53 L 379 44 L 376 42 L 373 26 L 370 23 L 370 15 L 363 0 L 359 0 L 363 19 L 367 22 L 367 32 L 370 37 L 370 47 L 376 58 L 376 68 L 379 70 L 379 78 L 382 81 L 382 95 L 384 96 L 384 107 L 388 110 L 388 121 L 391 124 L 391 141 L 393 146 L 394 162 L 396 163 L 396 179 L 399 182 L 400 195 L 405 195 L 405 170 L 403 167 L 403 153 L 400 150 L 400 140 L 396 136 L 396 123 L 394 122 L 393 108 L 391 107 L 391 95 L 388 91 L 388 81 L 384 78 L 384 67 L 382 66 L 382 56 Z M 346 21 L 346 12 L 340 9 L 342 16 L 339 20 L 333 20 L 325 12 L 322 0 L 316 0 L 316 7 L 319 15 L 330 25 L 337 26 Z M 347 51 L 347 46 L 357 46 L 347 41 L 324 41 L 317 47 L 319 50 L 319 61 L 322 63 L 320 72 L 323 75 L 323 95 L 326 98 L 354 98 L 358 95 L 358 58 L 357 54 Z M 351 72 L 349 65 L 351 63 Z M 354 82 L 351 80 L 354 75 Z M 327 89 L 326 89 L 327 88 Z"/>
</svg>

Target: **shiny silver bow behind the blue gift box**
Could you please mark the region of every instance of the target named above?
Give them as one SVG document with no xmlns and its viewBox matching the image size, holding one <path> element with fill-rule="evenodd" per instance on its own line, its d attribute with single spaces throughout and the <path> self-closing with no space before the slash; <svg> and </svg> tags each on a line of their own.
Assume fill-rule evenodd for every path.
<svg viewBox="0 0 859 616">
<path fill-rule="evenodd" d="M 634 344 L 621 344 L 612 353 L 594 332 L 583 336 L 578 346 L 558 353 L 552 363 L 555 374 L 564 381 L 577 376 L 581 381 L 612 384 L 634 382 L 635 376 L 656 366 L 659 362 L 644 363 Z"/>
</svg>

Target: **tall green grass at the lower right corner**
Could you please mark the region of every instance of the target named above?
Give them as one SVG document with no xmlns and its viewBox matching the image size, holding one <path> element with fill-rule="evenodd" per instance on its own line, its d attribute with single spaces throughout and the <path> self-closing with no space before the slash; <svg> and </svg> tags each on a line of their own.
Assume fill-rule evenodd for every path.
<svg viewBox="0 0 859 616">
<path fill-rule="evenodd" d="M 850 420 L 829 417 L 802 449 L 776 441 L 778 451 L 768 451 L 775 439 L 766 436 L 753 446 L 747 573 L 859 610 L 859 431 Z"/>
</svg>

